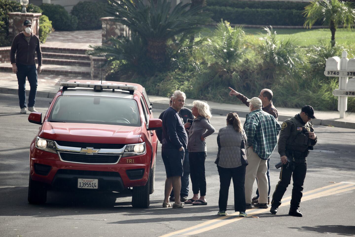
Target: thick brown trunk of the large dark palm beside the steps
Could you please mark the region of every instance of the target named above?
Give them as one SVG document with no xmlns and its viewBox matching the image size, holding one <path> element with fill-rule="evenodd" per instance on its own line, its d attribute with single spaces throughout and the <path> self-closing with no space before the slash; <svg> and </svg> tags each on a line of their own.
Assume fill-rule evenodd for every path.
<svg viewBox="0 0 355 237">
<path fill-rule="evenodd" d="M 157 66 L 166 63 L 166 40 L 165 39 L 148 39 L 147 56 Z"/>
</svg>

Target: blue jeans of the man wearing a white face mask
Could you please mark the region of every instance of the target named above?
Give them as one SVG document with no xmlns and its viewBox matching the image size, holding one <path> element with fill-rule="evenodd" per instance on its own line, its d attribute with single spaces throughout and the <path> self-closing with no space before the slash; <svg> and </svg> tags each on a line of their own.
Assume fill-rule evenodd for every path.
<svg viewBox="0 0 355 237">
<path fill-rule="evenodd" d="M 26 108 L 26 77 L 31 89 L 28 96 L 28 107 L 33 107 L 37 93 L 37 69 L 36 65 L 16 64 L 17 66 L 17 82 L 18 82 L 18 99 L 20 108 Z"/>
</svg>

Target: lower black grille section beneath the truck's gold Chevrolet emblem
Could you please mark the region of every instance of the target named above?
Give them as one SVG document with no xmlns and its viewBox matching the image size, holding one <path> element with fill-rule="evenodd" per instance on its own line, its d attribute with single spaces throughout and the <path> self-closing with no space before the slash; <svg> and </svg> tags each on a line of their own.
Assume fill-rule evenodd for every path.
<svg viewBox="0 0 355 237">
<path fill-rule="evenodd" d="M 81 153 L 58 152 L 62 161 L 86 164 L 116 164 L 121 155 L 86 155 Z"/>
</svg>

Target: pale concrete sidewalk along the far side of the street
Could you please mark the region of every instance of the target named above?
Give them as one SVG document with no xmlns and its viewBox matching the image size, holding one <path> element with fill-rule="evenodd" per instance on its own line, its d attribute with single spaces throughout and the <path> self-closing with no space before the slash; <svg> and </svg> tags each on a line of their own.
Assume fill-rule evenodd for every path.
<svg viewBox="0 0 355 237">
<path fill-rule="evenodd" d="M 39 74 L 40 75 L 40 74 Z M 86 79 L 81 76 L 58 76 L 43 75 L 38 78 L 37 96 L 45 98 L 53 98 L 59 89 L 59 83 L 73 79 Z M 0 93 L 17 95 L 17 78 L 15 74 L 0 72 Z M 26 93 L 29 92 L 29 84 L 26 82 Z M 228 95 L 226 95 L 228 96 Z M 169 98 L 159 96 L 149 96 L 150 102 L 153 103 L 155 109 L 166 109 L 169 104 Z M 186 99 L 185 106 L 192 107 L 193 99 Z M 249 113 L 249 108 L 242 104 L 237 98 L 230 97 L 231 104 L 209 102 L 212 114 L 226 115 L 228 112 L 238 112 L 240 117 L 245 117 Z M 282 122 L 295 114 L 301 109 L 280 108 L 277 107 L 279 113 L 279 122 Z M 338 111 L 315 111 L 317 119 L 312 119 L 313 125 L 332 125 L 339 128 L 355 129 L 355 113 L 346 112 L 345 118 L 339 119 Z"/>
</svg>

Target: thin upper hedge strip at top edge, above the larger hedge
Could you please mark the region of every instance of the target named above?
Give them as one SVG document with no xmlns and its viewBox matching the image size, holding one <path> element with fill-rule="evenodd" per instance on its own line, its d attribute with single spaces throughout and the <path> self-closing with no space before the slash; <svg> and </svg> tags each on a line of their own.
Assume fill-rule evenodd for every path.
<svg viewBox="0 0 355 237">
<path fill-rule="evenodd" d="M 251 8 L 251 9 L 285 9 L 303 11 L 309 2 L 290 1 L 240 1 L 240 0 L 207 0 L 207 6 Z"/>
</svg>

